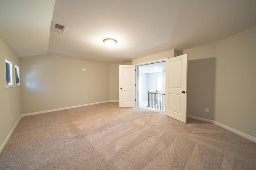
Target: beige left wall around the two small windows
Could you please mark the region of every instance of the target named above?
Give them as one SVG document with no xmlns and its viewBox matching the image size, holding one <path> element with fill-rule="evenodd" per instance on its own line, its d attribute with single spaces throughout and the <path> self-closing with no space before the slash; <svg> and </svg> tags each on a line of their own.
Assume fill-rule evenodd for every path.
<svg viewBox="0 0 256 170">
<path fill-rule="evenodd" d="M 4 55 L 20 64 L 16 54 L 0 39 L 0 146 L 21 115 L 20 87 L 5 88 Z"/>
</svg>

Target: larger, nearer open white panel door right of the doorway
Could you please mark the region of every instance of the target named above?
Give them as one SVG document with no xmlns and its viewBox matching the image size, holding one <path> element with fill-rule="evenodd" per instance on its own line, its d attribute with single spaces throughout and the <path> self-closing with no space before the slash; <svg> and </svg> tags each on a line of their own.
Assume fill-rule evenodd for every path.
<svg viewBox="0 0 256 170">
<path fill-rule="evenodd" d="M 166 60 L 165 114 L 186 123 L 187 54 Z"/>
</svg>

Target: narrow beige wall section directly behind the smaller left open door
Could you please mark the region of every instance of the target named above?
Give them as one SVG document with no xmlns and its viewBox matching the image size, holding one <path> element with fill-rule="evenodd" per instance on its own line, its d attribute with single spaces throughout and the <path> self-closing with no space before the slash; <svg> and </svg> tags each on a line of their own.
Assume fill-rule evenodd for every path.
<svg viewBox="0 0 256 170">
<path fill-rule="evenodd" d="M 109 64 L 109 100 L 119 100 L 119 65 L 125 64 Z"/>
</svg>

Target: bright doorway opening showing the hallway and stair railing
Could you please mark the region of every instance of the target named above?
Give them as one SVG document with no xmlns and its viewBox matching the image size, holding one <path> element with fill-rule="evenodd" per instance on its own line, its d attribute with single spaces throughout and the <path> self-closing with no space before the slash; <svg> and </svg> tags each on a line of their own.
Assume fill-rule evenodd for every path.
<svg viewBox="0 0 256 170">
<path fill-rule="evenodd" d="M 137 66 L 138 106 L 164 113 L 166 62 Z"/>
</svg>

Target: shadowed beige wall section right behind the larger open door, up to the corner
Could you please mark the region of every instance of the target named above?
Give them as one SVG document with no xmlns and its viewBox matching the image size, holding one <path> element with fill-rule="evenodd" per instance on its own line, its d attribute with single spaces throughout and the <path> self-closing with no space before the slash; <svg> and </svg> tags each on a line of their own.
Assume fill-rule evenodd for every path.
<svg viewBox="0 0 256 170">
<path fill-rule="evenodd" d="M 188 54 L 187 114 L 214 120 L 216 43 L 178 51 L 182 54 Z"/>
</svg>

